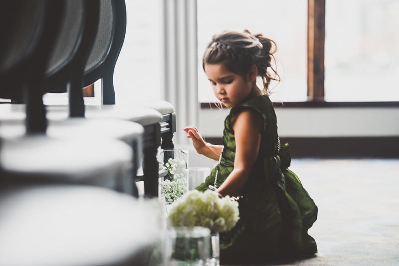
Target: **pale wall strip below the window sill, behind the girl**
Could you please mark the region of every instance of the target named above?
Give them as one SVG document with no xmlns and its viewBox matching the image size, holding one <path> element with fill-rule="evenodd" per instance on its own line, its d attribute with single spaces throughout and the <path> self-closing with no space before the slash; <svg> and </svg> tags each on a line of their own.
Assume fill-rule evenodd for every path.
<svg viewBox="0 0 399 266">
<path fill-rule="evenodd" d="M 201 109 L 203 136 L 221 137 L 229 110 Z M 280 137 L 399 136 L 399 107 L 276 108 Z"/>
</svg>

